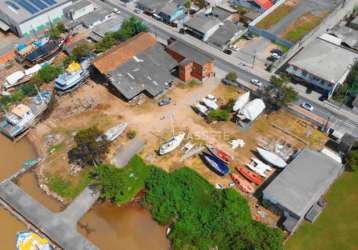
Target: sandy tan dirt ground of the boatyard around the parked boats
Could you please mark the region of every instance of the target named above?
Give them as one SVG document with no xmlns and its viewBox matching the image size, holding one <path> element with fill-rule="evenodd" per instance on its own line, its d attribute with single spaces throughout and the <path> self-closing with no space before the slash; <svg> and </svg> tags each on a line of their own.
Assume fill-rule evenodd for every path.
<svg viewBox="0 0 358 250">
<path fill-rule="evenodd" d="M 76 168 L 71 168 L 68 163 L 67 151 L 73 146 L 74 133 L 92 125 L 106 130 L 119 122 L 127 122 L 128 129 L 134 129 L 137 136 L 145 140 L 141 156 L 149 163 L 168 171 L 185 165 L 195 169 L 209 182 L 225 186 L 231 182 L 230 177 L 220 177 L 213 173 L 199 156 L 181 162 L 183 153 L 180 148 L 168 155 L 158 156 L 156 151 L 159 145 L 172 136 L 171 124 L 175 133 L 187 133 L 182 145 L 189 141 L 196 145 L 213 144 L 235 156 L 235 161 L 231 164 L 233 169 L 248 163 L 258 143 L 277 142 L 290 144 L 297 149 L 305 146 L 319 149 L 326 141 L 325 135 L 286 111 L 262 115 L 251 128 L 245 130 L 232 121 L 208 124 L 192 110 L 191 105 L 210 93 L 218 98 L 219 103 L 225 104 L 243 92 L 220 84 L 218 79 L 211 79 L 203 85 L 181 84 L 166 94 L 172 98 L 172 103 L 159 107 L 157 101 L 149 99 L 141 105 L 129 104 L 111 94 L 106 87 L 90 81 L 70 95 L 56 97 L 56 105 L 51 114 L 32 129 L 29 135 L 39 153 L 47 156 L 37 168 L 40 182 L 46 183 L 46 177 L 51 175 L 61 176 L 74 183 L 80 182 L 81 174 L 74 174 Z M 232 139 L 242 139 L 246 145 L 233 150 L 228 144 Z M 122 135 L 111 145 L 109 161 L 128 140 Z M 46 189 L 44 185 L 42 187 Z M 256 219 L 269 224 L 276 223 L 277 217 L 262 207 L 257 208 L 257 201 L 252 196 L 246 197 L 250 200 Z"/>
</svg>

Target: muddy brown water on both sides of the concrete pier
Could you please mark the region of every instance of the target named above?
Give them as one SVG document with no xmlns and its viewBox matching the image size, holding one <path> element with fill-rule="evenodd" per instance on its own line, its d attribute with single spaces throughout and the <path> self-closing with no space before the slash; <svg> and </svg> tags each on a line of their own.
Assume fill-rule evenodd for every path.
<svg viewBox="0 0 358 250">
<path fill-rule="evenodd" d="M 0 181 L 15 173 L 25 160 L 36 158 L 31 144 L 22 139 L 14 143 L 0 135 Z M 21 176 L 18 185 L 53 212 L 63 206 L 38 187 L 32 172 Z M 0 207 L 0 249 L 14 250 L 16 233 L 26 225 Z M 96 204 L 80 221 L 78 230 L 102 250 L 167 250 L 165 228 L 149 212 L 134 205 L 117 207 L 109 202 Z"/>
</svg>

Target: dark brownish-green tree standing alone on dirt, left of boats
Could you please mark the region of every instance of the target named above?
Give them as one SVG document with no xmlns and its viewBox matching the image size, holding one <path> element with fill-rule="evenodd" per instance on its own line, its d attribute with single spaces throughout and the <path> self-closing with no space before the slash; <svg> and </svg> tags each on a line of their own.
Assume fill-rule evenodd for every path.
<svg viewBox="0 0 358 250">
<path fill-rule="evenodd" d="M 102 163 L 108 153 L 109 142 L 96 126 L 78 131 L 74 141 L 76 146 L 68 152 L 68 158 L 82 167 Z"/>
</svg>

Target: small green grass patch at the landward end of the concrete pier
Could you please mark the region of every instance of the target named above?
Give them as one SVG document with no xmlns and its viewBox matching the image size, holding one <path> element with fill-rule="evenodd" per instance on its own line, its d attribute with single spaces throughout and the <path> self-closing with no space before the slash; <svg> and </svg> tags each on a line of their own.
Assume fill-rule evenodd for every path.
<svg viewBox="0 0 358 250">
<path fill-rule="evenodd" d="M 68 200 L 76 198 L 76 196 L 91 182 L 91 179 L 89 178 L 89 171 L 84 171 L 81 174 L 81 178 L 78 183 L 67 180 L 58 174 L 48 175 L 47 178 L 47 185 L 50 190 Z"/>
</svg>

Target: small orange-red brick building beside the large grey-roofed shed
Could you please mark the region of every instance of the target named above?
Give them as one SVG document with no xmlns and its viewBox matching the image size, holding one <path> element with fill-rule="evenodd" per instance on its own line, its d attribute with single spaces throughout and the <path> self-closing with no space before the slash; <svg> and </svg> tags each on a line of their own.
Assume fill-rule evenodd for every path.
<svg viewBox="0 0 358 250">
<path fill-rule="evenodd" d="M 214 76 L 214 59 L 190 45 L 174 41 L 168 45 L 167 52 L 179 63 L 180 80 L 188 81 L 196 78 L 202 81 Z"/>
</svg>

